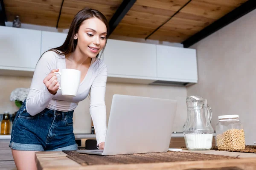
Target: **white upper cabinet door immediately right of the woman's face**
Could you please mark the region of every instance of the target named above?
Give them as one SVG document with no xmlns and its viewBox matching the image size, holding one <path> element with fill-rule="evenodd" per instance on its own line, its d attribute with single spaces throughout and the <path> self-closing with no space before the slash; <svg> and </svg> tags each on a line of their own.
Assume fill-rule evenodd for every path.
<svg viewBox="0 0 256 170">
<path fill-rule="evenodd" d="M 156 77 L 156 45 L 109 39 L 103 53 L 108 75 Z"/>
</svg>

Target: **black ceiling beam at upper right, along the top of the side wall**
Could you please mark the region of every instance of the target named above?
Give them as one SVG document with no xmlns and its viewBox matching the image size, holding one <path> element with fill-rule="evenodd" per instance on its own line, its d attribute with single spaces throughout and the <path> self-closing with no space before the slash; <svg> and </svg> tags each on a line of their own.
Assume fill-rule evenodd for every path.
<svg viewBox="0 0 256 170">
<path fill-rule="evenodd" d="M 204 39 L 205 37 L 209 36 L 210 34 L 218 31 L 219 29 L 227 26 L 228 24 L 232 23 L 233 21 L 239 19 L 243 15 L 247 14 L 250 11 L 253 11 L 256 8 L 256 0 L 248 0 L 247 2 L 243 3 L 241 6 L 237 7 L 230 13 L 224 15 L 220 19 L 216 20 L 211 25 L 207 26 L 203 30 L 199 31 L 198 33 L 192 35 L 187 40 L 181 42 L 184 48 L 188 48 L 191 45 L 195 44 L 196 42 Z"/>
</svg>

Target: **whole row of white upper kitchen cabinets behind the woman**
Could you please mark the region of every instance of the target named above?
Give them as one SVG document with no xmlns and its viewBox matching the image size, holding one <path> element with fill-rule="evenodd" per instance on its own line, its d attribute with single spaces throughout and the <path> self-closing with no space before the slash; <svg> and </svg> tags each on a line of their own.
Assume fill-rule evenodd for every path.
<svg viewBox="0 0 256 170">
<path fill-rule="evenodd" d="M 61 46 L 66 37 L 0 26 L 0 75 L 32 77 L 41 54 Z M 108 39 L 102 58 L 108 82 L 188 85 L 198 81 L 195 49 Z"/>
</svg>

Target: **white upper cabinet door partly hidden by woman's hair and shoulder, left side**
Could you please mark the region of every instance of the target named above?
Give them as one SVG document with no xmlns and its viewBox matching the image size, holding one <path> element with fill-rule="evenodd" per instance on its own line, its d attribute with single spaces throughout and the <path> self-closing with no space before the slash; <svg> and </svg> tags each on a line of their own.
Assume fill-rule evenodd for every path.
<svg viewBox="0 0 256 170">
<path fill-rule="evenodd" d="M 61 46 L 67 38 L 67 34 L 59 32 L 42 31 L 41 55 L 50 48 Z"/>
</svg>

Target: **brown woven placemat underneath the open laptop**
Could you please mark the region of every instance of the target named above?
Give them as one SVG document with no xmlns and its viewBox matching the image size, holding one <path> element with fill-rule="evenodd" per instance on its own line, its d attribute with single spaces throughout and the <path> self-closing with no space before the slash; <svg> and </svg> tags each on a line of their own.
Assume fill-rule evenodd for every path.
<svg viewBox="0 0 256 170">
<path fill-rule="evenodd" d="M 204 161 L 217 159 L 239 159 L 231 156 L 209 155 L 203 153 L 188 152 L 160 152 L 160 153 L 141 153 L 125 154 L 113 156 L 100 156 L 78 153 L 75 150 L 63 150 L 68 158 L 77 163 L 86 165 L 100 164 L 137 164 L 137 163 L 157 163 L 157 162 L 176 162 L 176 161 Z"/>
</svg>

